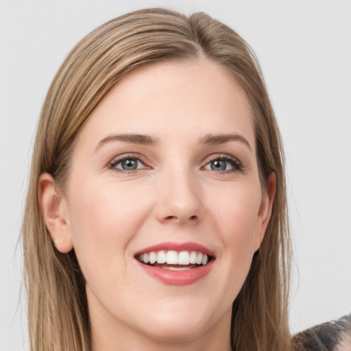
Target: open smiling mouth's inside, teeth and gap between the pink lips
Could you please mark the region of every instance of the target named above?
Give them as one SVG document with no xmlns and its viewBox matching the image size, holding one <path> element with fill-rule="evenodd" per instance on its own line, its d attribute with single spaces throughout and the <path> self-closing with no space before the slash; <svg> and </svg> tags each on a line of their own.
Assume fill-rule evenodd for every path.
<svg viewBox="0 0 351 351">
<path fill-rule="evenodd" d="M 136 259 L 152 267 L 169 271 L 185 271 L 207 265 L 213 257 L 199 251 L 160 250 L 137 254 Z"/>
</svg>

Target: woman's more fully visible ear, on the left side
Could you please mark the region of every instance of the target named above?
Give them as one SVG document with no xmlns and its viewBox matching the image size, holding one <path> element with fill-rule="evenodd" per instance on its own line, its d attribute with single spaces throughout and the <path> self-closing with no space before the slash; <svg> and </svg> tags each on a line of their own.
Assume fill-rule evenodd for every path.
<svg viewBox="0 0 351 351">
<path fill-rule="evenodd" d="M 49 173 L 40 175 L 38 182 L 39 204 L 51 240 L 58 251 L 65 254 L 73 249 L 69 226 L 69 211 L 66 199 L 55 187 L 55 180 Z"/>
</svg>

